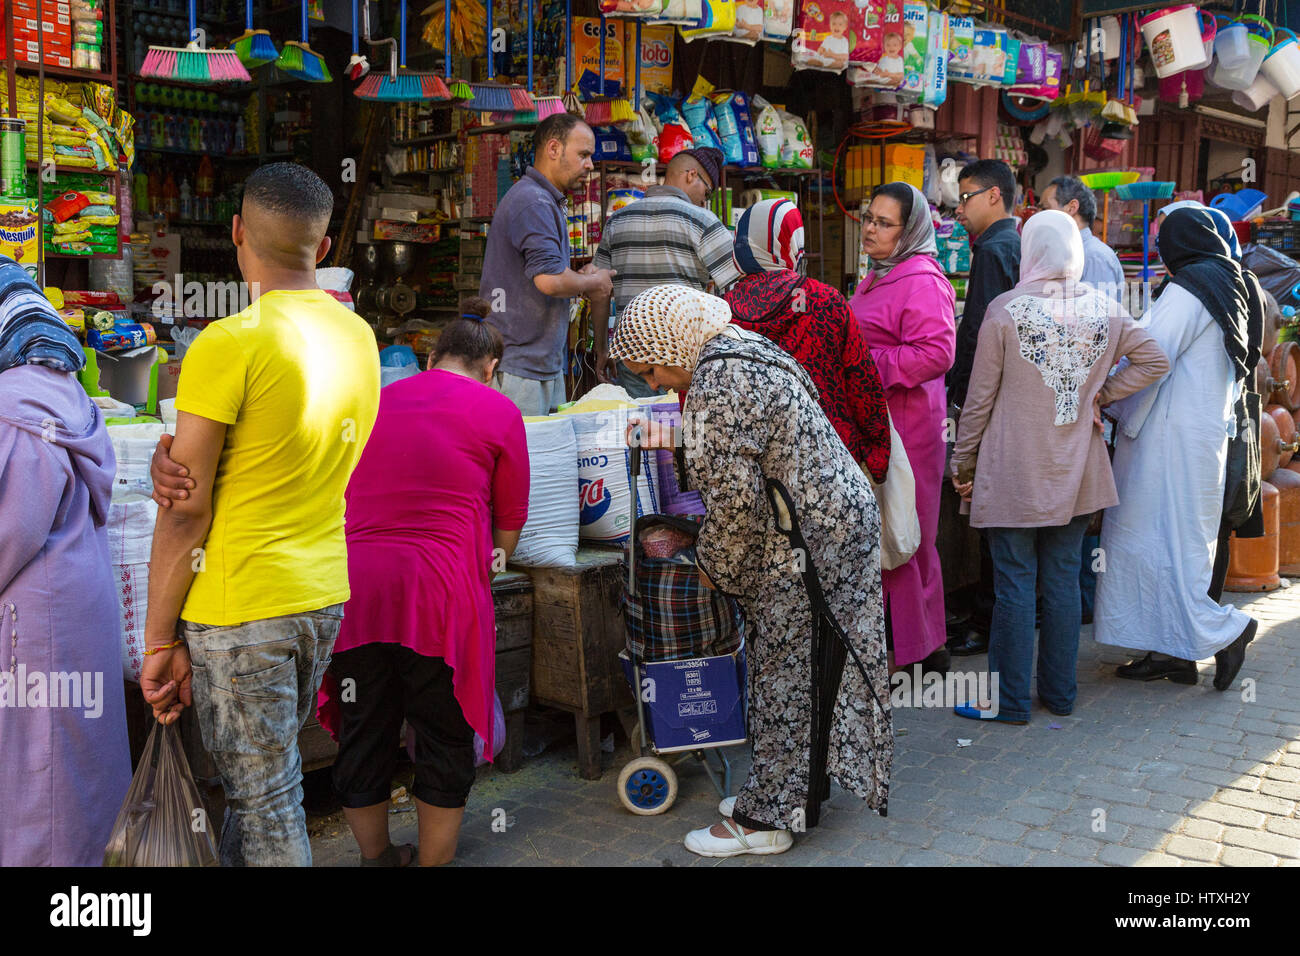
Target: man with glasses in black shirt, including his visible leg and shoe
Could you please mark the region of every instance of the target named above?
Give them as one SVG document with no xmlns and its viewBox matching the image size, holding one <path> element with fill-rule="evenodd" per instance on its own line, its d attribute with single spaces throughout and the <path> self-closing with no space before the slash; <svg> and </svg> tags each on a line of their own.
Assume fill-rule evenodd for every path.
<svg viewBox="0 0 1300 956">
<path fill-rule="evenodd" d="M 957 219 L 971 235 L 971 276 L 966 284 L 966 304 L 957 325 L 957 360 L 948 372 L 948 402 L 961 415 L 966 403 L 975 345 L 988 303 L 1010 291 L 1020 281 L 1020 234 L 1011 215 L 1015 204 L 1015 176 L 1001 160 L 978 160 L 957 177 L 959 202 Z M 993 559 L 988 541 L 980 533 L 980 580 L 970 594 L 970 618 L 956 630 L 948 650 L 958 657 L 988 650 L 988 631 L 993 617 Z M 959 601 L 957 602 L 959 604 Z M 974 628 L 975 633 L 968 635 Z"/>
</svg>

